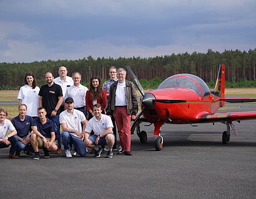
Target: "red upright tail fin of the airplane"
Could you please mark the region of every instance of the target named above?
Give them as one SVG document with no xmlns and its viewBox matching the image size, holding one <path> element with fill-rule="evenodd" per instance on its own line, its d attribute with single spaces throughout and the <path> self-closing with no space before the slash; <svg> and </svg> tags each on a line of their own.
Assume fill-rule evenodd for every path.
<svg viewBox="0 0 256 199">
<path fill-rule="evenodd" d="M 225 65 L 219 66 L 219 72 L 212 93 L 220 98 L 225 98 Z M 225 106 L 225 102 L 221 101 L 221 106 Z"/>
</svg>

